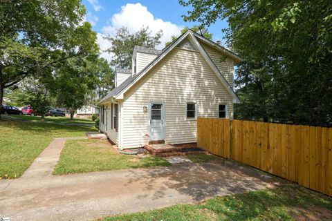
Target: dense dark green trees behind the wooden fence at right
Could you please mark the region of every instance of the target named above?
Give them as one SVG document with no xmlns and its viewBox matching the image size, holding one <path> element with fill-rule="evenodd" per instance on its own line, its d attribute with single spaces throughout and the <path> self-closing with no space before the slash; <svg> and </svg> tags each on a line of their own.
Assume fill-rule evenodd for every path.
<svg viewBox="0 0 332 221">
<path fill-rule="evenodd" d="M 246 61 L 235 84 L 241 119 L 329 126 L 332 4 L 320 1 L 181 0 L 185 21 L 228 19 L 227 43 Z"/>
</svg>

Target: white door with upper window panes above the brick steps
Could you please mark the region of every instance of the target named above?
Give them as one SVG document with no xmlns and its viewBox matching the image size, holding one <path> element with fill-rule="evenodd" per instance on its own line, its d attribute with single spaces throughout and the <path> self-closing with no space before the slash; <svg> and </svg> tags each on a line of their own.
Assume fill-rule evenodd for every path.
<svg viewBox="0 0 332 221">
<path fill-rule="evenodd" d="M 150 103 L 150 140 L 165 139 L 165 106 L 163 103 Z"/>
</svg>

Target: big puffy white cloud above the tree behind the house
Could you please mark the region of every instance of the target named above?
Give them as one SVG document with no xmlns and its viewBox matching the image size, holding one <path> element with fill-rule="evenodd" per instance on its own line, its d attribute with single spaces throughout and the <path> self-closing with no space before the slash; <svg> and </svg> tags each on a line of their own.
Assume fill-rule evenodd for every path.
<svg viewBox="0 0 332 221">
<path fill-rule="evenodd" d="M 110 25 L 104 26 L 102 33 L 98 34 L 99 36 L 110 35 L 114 37 L 116 35 L 116 28 L 121 28 L 122 26 L 127 27 L 131 34 L 140 30 L 142 26 L 148 26 L 152 35 L 155 35 L 159 30 L 163 30 L 163 37 L 160 39 L 161 43 L 156 47 L 159 49 L 165 47 L 165 43 L 171 40 L 172 35 L 180 35 L 181 29 L 183 28 L 169 21 L 163 21 L 163 19 L 154 17 L 154 15 L 147 10 L 147 7 L 142 6 L 141 3 L 127 3 L 127 5 L 122 6 L 121 11 L 114 14 L 109 21 Z M 105 48 L 103 45 L 106 44 L 104 39 L 99 39 L 98 37 L 98 42 L 100 48 Z M 102 57 L 104 56 L 107 55 L 103 55 Z M 107 59 L 110 57 L 110 55 L 107 56 Z"/>
</svg>

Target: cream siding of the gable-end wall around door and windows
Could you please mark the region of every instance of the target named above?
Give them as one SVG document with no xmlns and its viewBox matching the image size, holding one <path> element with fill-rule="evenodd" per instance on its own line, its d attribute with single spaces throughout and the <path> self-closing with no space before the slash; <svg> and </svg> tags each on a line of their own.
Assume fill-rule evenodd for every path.
<svg viewBox="0 0 332 221">
<path fill-rule="evenodd" d="M 198 117 L 218 117 L 219 104 L 228 105 L 233 116 L 232 97 L 199 52 L 174 48 L 160 64 L 124 94 L 122 106 L 122 148 L 149 142 L 149 113 L 143 106 L 165 102 L 165 142 L 196 142 L 196 119 L 186 118 L 187 102 L 196 102 Z"/>
</svg>

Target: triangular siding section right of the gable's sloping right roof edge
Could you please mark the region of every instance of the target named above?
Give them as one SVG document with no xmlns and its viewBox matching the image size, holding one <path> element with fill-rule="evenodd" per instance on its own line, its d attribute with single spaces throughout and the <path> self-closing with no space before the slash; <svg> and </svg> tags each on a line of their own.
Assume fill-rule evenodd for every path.
<svg viewBox="0 0 332 221">
<path fill-rule="evenodd" d="M 223 77 L 225 77 L 228 84 L 233 88 L 234 87 L 234 61 L 229 57 L 223 57 L 222 52 L 208 46 L 207 44 L 201 43 L 205 52 L 208 53 L 209 57 L 212 59 L 213 63 L 219 69 Z"/>
</svg>

